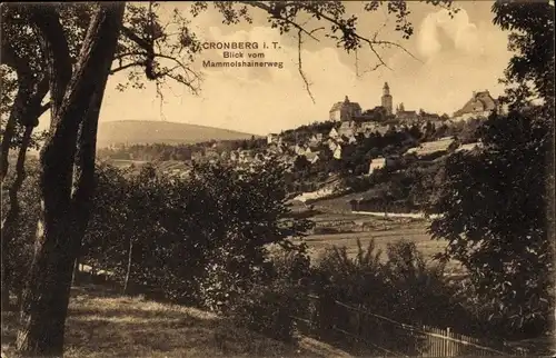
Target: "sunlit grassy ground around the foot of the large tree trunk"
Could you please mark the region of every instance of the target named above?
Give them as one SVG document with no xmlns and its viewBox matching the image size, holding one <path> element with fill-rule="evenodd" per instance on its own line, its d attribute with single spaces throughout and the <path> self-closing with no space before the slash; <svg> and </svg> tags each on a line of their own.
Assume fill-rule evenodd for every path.
<svg viewBox="0 0 556 358">
<path fill-rule="evenodd" d="M 72 289 L 66 326 L 69 358 L 350 357 L 307 337 L 286 345 L 195 308 L 122 297 L 99 286 Z M 16 314 L 2 312 L 2 357 L 13 357 Z"/>
</svg>

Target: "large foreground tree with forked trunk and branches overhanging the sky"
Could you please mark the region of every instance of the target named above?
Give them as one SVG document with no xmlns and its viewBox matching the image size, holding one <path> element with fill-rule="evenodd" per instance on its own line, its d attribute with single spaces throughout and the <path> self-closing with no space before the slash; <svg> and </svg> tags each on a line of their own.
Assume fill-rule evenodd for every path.
<svg viewBox="0 0 556 358">
<path fill-rule="evenodd" d="M 450 1 L 427 2 L 450 4 Z M 403 38 L 408 38 L 413 27 L 407 20 L 409 11 L 406 2 L 385 3 L 397 18 L 396 29 Z M 385 3 L 369 1 L 365 10 L 376 11 Z M 376 54 L 378 66 L 386 66 L 377 52 L 379 48 L 394 46 L 403 49 L 395 42 L 361 37 L 356 31 L 357 18 L 346 16 L 340 2 L 237 1 L 214 2 L 212 6 L 224 16 L 225 23 L 250 21 L 248 7 L 265 11 L 272 28 L 278 28 L 281 33 L 297 30 L 299 52 L 302 38 L 315 39 L 318 30 L 304 28 L 299 20 L 304 16 L 329 24 L 329 37 L 348 52 L 367 44 Z M 192 56 L 199 47 L 187 26 L 179 27 L 178 42 L 171 44 L 170 36 L 165 34 L 163 27 L 157 21 L 152 3 L 147 8 L 128 6 L 127 11 L 125 3 L 102 3 L 89 10 L 87 6 L 73 8 L 81 20 L 79 23 L 88 24 L 82 28 L 82 33 L 80 27 L 66 31 L 68 29 L 62 26 L 63 7 L 14 7 L 28 17 L 29 24 L 39 33 L 36 42 L 41 43 L 41 54 L 47 63 L 43 73 L 50 76 L 52 121 L 41 151 L 41 230 L 23 299 L 24 327 L 19 334 L 18 347 L 22 354 L 60 355 L 71 267 L 79 251 L 93 191 L 98 113 L 107 78 L 115 71 L 111 69 L 112 61 L 116 59 L 119 62 L 118 69 L 130 69 L 130 83 L 133 86 L 141 83 L 137 76 L 140 71 L 155 81 L 158 89 L 166 79 L 172 78 L 195 91 L 198 76 L 175 57 L 159 53 L 156 49 L 166 48 L 172 53 L 186 48 L 189 50 L 187 54 Z M 192 12 L 197 14 L 207 8 L 208 3 L 196 2 Z M 179 13 L 175 13 L 175 19 L 183 24 Z M 122 27 L 122 22 L 127 26 Z M 123 37 L 119 36 L 120 29 Z M 79 49 L 75 59 L 71 57 L 72 48 Z M 165 66 L 161 59 L 173 61 L 176 66 Z M 175 70 L 181 72 L 176 73 Z M 301 61 L 299 72 L 305 79 Z M 306 88 L 310 95 L 307 80 Z"/>
</svg>

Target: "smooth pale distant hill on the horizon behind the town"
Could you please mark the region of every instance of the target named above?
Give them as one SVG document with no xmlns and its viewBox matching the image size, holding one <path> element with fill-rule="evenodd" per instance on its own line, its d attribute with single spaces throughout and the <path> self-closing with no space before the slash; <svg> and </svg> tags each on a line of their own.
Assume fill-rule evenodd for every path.
<svg viewBox="0 0 556 358">
<path fill-rule="evenodd" d="M 119 120 L 99 123 L 97 146 L 103 148 L 118 143 L 188 145 L 209 140 L 250 139 L 251 136 L 228 129 L 161 120 Z"/>
</svg>

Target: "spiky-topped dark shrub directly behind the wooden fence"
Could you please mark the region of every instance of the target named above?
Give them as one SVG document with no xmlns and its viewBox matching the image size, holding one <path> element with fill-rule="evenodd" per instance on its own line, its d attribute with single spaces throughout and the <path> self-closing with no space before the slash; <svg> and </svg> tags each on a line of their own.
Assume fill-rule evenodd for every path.
<svg viewBox="0 0 556 358">
<path fill-rule="evenodd" d="M 347 249 L 327 249 L 315 268 L 315 292 L 321 298 L 316 321 L 319 329 L 329 326 L 349 329 L 349 311 L 329 300 L 360 307 L 410 325 L 455 327 L 468 330 L 466 312 L 454 299 L 455 290 L 444 278 L 444 266 L 427 262 L 414 242 L 388 245 L 386 259 L 375 241 L 364 248 L 358 242 L 354 258 Z M 435 310 L 434 316 L 429 315 Z M 454 322 L 457 314 L 459 322 Z M 457 326 L 457 327 L 456 327 Z"/>
</svg>

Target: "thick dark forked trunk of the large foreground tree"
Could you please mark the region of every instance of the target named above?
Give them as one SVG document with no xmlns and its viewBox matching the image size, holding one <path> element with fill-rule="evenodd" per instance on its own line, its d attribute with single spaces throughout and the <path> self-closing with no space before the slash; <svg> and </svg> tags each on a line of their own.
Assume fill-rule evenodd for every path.
<svg viewBox="0 0 556 358">
<path fill-rule="evenodd" d="M 32 17 L 50 49 L 53 117 L 41 152 L 41 220 L 18 335 L 18 350 L 23 356 L 61 356 L 63 352 L 71 274 L 81 239 L 69 233 L 75 223 L 71 189 L 78 132 L 92 97 L 106 86 L 123 9 L 125 2 L 99 4 L 81 48 L 77 71 L 64 91 L 60 89 L 61 77 L 56 73 L 67 67 L 69 52 L 53 50 L 67 49 L 67 43 L 60 46 L 66 38 L 60 33 L 59 18 L 52 12 L 56 9 L 41 7 Z M 58 96 L 60 92 L 66 95 Z"/>
</svg>

